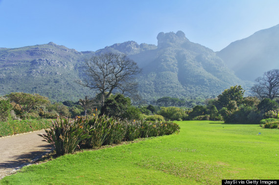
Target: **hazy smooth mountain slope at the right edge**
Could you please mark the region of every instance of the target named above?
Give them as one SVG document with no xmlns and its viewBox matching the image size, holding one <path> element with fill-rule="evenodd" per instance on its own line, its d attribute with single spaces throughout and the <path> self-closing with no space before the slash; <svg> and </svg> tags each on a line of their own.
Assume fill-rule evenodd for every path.
<svg viewBox="0 0 279 185">
<path fill-rule="evenodd" d="M 279 69 L 279 24 L 234 41 L 219 56 L 242 80 L 254 81 L 265 71 Z"/>
</svg>

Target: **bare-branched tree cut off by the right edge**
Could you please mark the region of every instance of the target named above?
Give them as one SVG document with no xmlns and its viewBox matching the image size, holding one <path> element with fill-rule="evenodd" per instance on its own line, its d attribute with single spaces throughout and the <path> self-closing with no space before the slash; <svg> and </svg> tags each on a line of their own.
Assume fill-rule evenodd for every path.
<svg viewBox="0 0 279 185">
<path fill-rule="evenodd" d="M 258 77 L 257 83 L 251 88 L 259 98 L 274 99 L 279 97 L 279 69 L 272 69 Z"/>
</svg>

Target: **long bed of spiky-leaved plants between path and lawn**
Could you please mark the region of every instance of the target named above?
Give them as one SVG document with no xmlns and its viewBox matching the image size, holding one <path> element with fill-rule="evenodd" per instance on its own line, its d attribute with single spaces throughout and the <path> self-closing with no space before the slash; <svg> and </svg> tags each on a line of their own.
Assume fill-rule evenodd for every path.
<svg viewBox="0 0 279 185">
<path fill-rule="evenodd" d="M 64 155 L 72 153 L 81 144 L 88 148 L 119 144 L 137 138 L 169 135 L 179 129 L 177 123 L 129 121 L 93 114 L 74 120 L 58 117 L 46 134 L 40 136 L 54 146 L 57 155 Z"/>
</svg>

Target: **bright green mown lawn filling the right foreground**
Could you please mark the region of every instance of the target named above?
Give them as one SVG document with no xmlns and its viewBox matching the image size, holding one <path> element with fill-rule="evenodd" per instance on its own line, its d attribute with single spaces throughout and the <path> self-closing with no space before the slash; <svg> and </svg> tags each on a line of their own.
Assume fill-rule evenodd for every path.
<svg viewBox="0 0 279 185">
<path fill-rule="evenodd" d="M 222 179 L 279 179 L 278 129 L 211 121 L 178 123 L 179 134 L 65 155 L 23 167 L 0 184 L 221 184 Z"/>
</svg>

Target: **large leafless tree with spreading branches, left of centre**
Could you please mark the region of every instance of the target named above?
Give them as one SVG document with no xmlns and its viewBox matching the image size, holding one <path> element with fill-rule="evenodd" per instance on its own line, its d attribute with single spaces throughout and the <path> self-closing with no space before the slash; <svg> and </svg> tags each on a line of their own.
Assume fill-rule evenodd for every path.
<svg viewBox="0 0 279 185">
<path fill-rule="evenodd" d="M 104 53 L 86 60 L 87 78 L 79 84 L 97 89 L 102 95 L 101 105 L 113 92 L 128 95 L 137 89 L 136 75 L 141 72 L 137 63 L 125 54 Z"/>
</svg>

